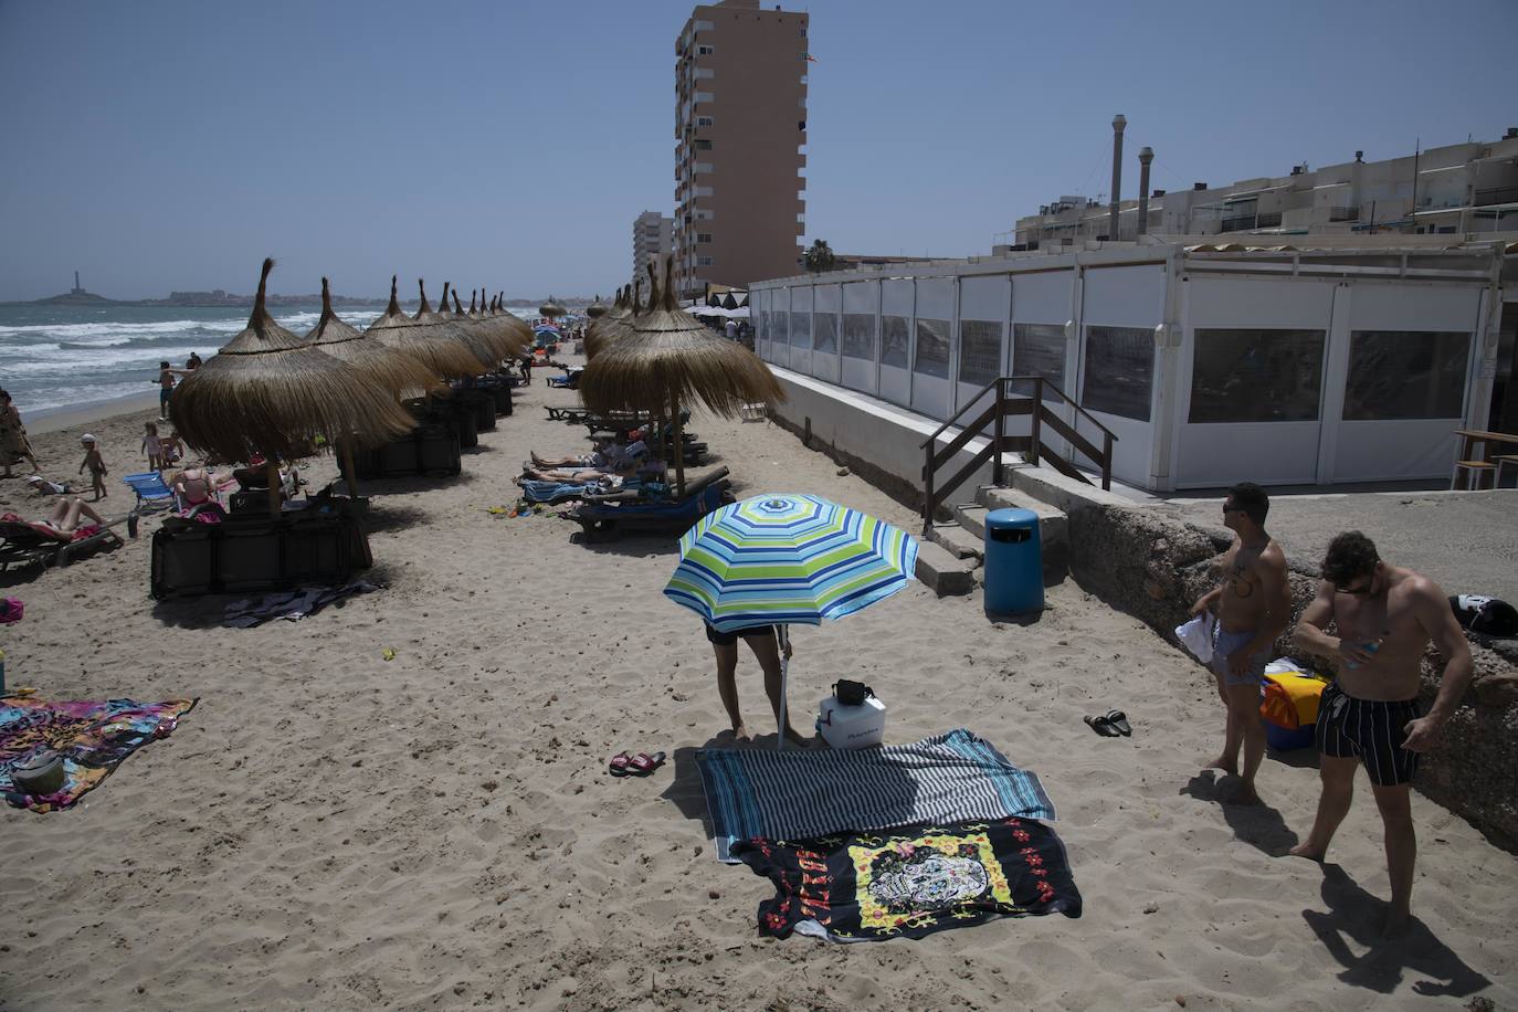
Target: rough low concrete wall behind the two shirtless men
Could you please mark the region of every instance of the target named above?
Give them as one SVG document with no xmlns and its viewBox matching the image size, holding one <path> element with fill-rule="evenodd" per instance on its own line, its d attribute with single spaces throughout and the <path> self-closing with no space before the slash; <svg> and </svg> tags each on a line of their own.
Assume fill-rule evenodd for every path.
<svg viewBox="0 0 1518 1012">
<path fill-rule="evenodd" d="M 1175 627 L 1187 621 L 1196 598 L 1217 586 L 1228 543 L 1143 508 L 1072 501 L 1067 513 L 1075 580 L 1175 642 Z M 1292 567 L 1293 625 L 1316 593 L 1318 580 L 1316 570 Z M 1289 637 L 1290 630 L 1275 643 L 1277 657 L 1296 657 L 1325 675 L 1334 674 L 1333 660 L 1293 649 Z M 1413 786 L 1469 819 L 1497 845 L 1518 851 L 1518 674 L 1512 654 L 1500 652 L 1506 649 L 1501 643 L 1474 634 L 1469 639 L 1475 680 L 1445 725 L 1442 745 L 1424 757 Z M 1442 669 L 1444 658 L 1430 648 L 1419 693 L 1425 706 L 1438 692 Z"/>
</svg>

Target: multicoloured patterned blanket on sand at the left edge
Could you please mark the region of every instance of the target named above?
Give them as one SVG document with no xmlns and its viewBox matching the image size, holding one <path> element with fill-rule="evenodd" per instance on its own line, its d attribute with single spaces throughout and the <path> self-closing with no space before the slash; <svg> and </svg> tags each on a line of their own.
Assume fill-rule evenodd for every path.
<svg viewBox="0 0 1518 1012">
<path fill-rule="evenodd" d="M 167 737 L 196 702 L 0 698 L 0 794 L 20 809 L 67 809 L 109 777 L 123 759 L 153 739 Z M 44 750 L 64 757 L 64 787 L 58 794 L 21 794 L 11 781 L 11 766 Z"/>
</svg>

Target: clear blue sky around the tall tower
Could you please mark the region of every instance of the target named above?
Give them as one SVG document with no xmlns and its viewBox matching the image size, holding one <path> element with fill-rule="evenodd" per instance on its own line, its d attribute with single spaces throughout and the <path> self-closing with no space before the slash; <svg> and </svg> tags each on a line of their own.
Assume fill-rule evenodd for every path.
<svg viewBox="0 0 1518 1012">
<path fill-rule="evenodd" d="M 609 294 L 674 202 L 674 0 L 0 0 L 0 300 Z M 768 5 L 767 5 L 768 6 Z M 1518 2 L 814 0 L 806 237 L 967 256 L 1098 196 L 1495 140 Z M 407 282 L 411 284 L 411 282 Z"/>
</svg>

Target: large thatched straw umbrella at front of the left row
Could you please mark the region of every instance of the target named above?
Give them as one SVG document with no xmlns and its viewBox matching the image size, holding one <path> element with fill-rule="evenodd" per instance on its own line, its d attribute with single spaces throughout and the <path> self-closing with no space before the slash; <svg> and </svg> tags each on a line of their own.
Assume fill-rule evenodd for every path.
<svg viewBox="0 0 1518 1012">
<path fill-rule="evenodd" d="M 264 290 L 275 261 L 266 259 L 247 329 L 185 376 L 172 405 L 185 443 L 223 460 L 269 458 L 269 508 L 279 511 L 279 463 L 316 437 L 360 445 L 389 442 L 411 429 L 411 417 L 354 366 L 339 361 L 273 322 Z"/>
</svg>

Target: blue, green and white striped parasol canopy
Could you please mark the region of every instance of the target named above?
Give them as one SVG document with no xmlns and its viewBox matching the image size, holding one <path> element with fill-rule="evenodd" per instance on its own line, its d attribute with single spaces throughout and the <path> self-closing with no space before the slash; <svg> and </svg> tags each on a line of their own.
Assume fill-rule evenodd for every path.
<svg viewBox="0 0 1518 1012">
<path fill-rule="evenodd" d="M 723 633 L 821 625 L 891 596 L 915 567 L 917 540 L 900 528 L 818 496 L 768 493 L 697 520 L 665 595 Z"/>
</svg>

